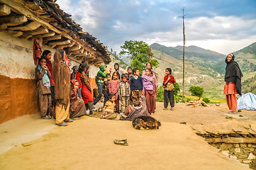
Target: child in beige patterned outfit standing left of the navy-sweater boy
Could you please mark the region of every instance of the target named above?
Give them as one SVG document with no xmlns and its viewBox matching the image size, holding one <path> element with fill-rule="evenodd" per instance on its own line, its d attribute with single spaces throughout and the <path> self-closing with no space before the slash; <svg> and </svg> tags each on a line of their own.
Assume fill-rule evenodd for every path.
<svg viewBox="0 0 256 170">
<path fill-rule="evenodd" d="M 127 75 L 122 74 L 122 82 L 119 84 L 118 94 L 120 96 L 121 101 L 121 113 L 124 113 L 126 111 L 126 108 L 128 107 L 128 102 L 130 98 L 130 84 L 127 82 Z"/>
</svg>

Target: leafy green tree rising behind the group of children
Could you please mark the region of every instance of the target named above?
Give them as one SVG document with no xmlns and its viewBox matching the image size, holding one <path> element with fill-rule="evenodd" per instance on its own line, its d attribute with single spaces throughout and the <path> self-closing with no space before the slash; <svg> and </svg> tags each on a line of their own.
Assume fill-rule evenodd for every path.
<svg viewBox="0 0 256 170">
<path fill-rule="evenodd" d="M 120 55 L 128 55 L 132 60 L 130 66 L 133 68 L 138 68 L 140 73 L 145 69 L 145 64 L 150 62 L 150 46 L 143 41 L 130 40 L 125 41 L 124 45 L 121 46 Z M 151 52 L 151 57 L 154 57 Z M 158 67 L 157 60 L 151 60 L 152 67 Z"/>
</svg>

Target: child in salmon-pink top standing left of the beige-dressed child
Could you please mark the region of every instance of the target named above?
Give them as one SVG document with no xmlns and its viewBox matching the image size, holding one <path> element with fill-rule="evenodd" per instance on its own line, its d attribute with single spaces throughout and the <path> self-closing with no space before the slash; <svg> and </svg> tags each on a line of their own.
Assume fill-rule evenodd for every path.
<svg viewBox="0 0 256 170">
<path fill-rule="evenodd" d="M 119 74 L 118 72 L 113 72 L 112 80 L 109 82 L 108 90 L 110 94 L 115 95 L 115 103 L 116 103 L 116 113 L 119 113 L 119 95 L 118 95 L 118 89 L 119 89 Z"/>
</svg>

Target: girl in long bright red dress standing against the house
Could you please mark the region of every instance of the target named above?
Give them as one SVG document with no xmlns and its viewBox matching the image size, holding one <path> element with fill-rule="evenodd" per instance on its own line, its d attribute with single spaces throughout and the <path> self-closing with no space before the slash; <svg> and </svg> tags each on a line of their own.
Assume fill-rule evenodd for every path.
<svg viewBox="0 0 256 170">
<path fill-rule="evenodd" d="M 91 94 L 91 84 L 89 83 L 89 79 L 87 77 L 87 72 L 89 72 L 89 65 L 87 63 L 84 63 L 81 65 L 81 84 L 82 84 L 82 88 L 81 88 L 81 93 L 82 93 L 82 99 L 84 101 L 84 104 L 86 106 L 87 109 L 89 109 L 89 115 L 93 114 L 92 108 L 93 108 L 93 104 L 94 104 L 94 98 L 92 97 Z"/>
</svg>

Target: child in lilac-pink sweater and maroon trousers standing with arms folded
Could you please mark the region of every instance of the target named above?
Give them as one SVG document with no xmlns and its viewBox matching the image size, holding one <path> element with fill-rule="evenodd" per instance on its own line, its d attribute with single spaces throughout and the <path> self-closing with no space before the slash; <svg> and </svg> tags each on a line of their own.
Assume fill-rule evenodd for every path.
<svg viewBox="0 0 256 170">
<path fill-rule="evenodd" d="M 151 69 L 145 69 L 143 76 L 143 87 L 148 107 L 148 113 L 155 113 L 155 93 L 154 93 L 154 77 L 151 75 Z"/>
</svg>

